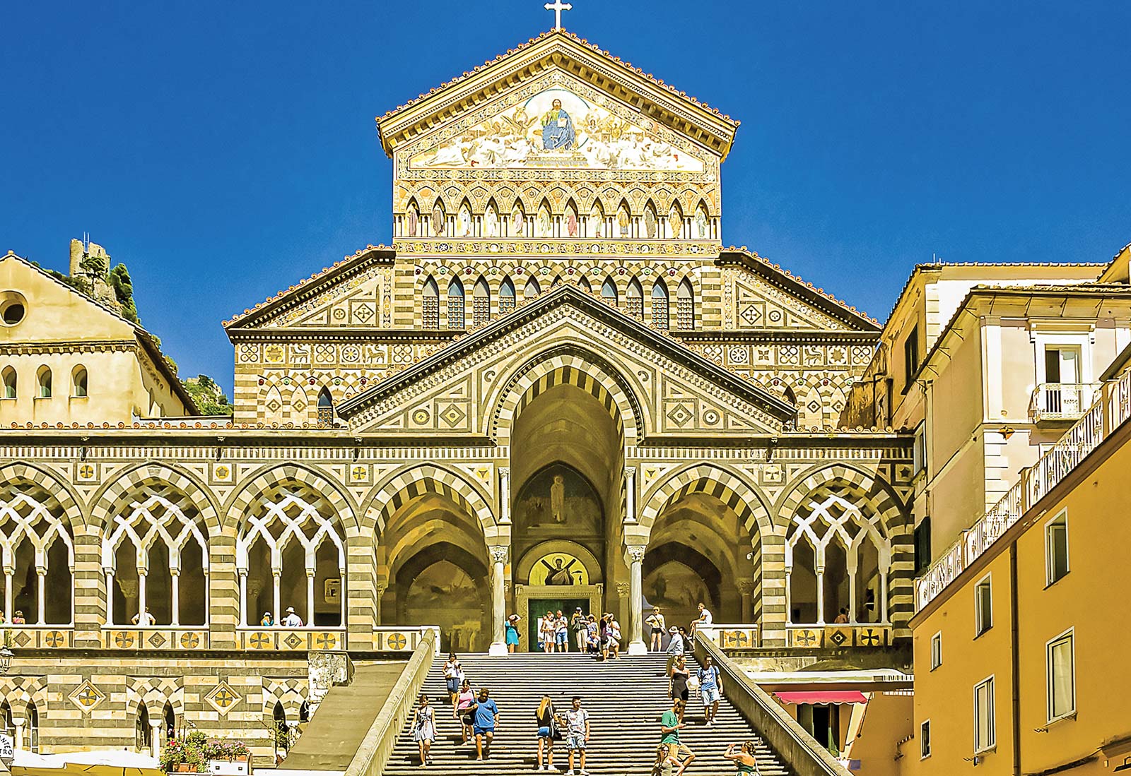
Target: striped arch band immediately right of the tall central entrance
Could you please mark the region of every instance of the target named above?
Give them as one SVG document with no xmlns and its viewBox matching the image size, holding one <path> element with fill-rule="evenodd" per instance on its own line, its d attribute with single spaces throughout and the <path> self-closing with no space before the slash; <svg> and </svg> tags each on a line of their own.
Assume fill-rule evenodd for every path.
<svg viewBox="0 0 1131 776">
<path fill-rule="evenodd" d="M 667 507 L 691 494 L 714 496 L 726 504 L 751 537 L 774 533 L 769 511 L 758 491 L 735 473 L 716 464 L 700 463 L 668 477 L 644 496 L 639 522 L 651 533 L 651 527 Z"/>
</svg>

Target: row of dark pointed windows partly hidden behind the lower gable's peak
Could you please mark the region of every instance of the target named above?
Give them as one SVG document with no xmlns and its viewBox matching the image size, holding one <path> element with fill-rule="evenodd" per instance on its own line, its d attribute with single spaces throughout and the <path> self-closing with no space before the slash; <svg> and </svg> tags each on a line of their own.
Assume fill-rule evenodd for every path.
<svg viewBox="0 0 1131 776">
<path fill-rule="evenodd" d="M 594 294 L 597 289 L 584 274 L 573 278 L 561 274 L 550 281 L 550 288 L 563 282 L 571 282 L 581 290 Z M 521 287 L 521 298 L 510 276 L 504 276 L 492 294 L 487 278 L 481 276 L 472 286 L 470 313 L 468 314 L 467 290 L 459 277 L 454 277 L 444 288 L 441 299 L 440 285 L 431 274 L 424 278 L 421 286 L 421 325 L 425 329 L 466 329 L 468 324 L 481 326 L 495 314 L 506 315 L 515 309 L 519 300 L 527 302 L 543 291 L 542 284 L 530 276 Z M 647 322 L 651 328 L 667 331 L 670 329 L 690 330 L 696 325 L 694 289 L 688 278 L 683 278 L 675 287 L 675 309 L 671 304 L 671 291 L 663 278 L 651 282 L 647 297 L 644 286 L 636 277 L 629 279 L 623 294 L 612 274 L 606 274 L 601 282 L 599 294 L 607 304 L 621 309 L 640 322 Z M 493 302 L 494 299 L 494 302 Z M 441 308 L 446 317 L 441 321 Z M 674 324 L 674 325 L 673 325 Z"/>
</svg>

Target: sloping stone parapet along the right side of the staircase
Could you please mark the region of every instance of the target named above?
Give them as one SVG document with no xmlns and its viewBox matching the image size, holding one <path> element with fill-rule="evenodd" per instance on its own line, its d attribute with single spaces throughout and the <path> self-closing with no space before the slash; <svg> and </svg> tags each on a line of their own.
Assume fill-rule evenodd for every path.
<svg viewBox="0 0 1131 776">
<path fill-rule="evenodd" d="M 793 773 L 797 776 L 852 776 L 828 749 L 818 743 L 766 690 L 754 683 L 717 644 L 707 638 L 697 638 L 696 652 L 710 655 L 725 677 L 726 699 L 758 730 L 774 753 Z"/>
</svg>

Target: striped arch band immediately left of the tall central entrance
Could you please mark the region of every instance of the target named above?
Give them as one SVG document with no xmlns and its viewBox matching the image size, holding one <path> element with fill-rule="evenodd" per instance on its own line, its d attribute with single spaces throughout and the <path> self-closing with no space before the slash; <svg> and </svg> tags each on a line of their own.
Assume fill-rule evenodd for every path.
<svg viewBox="0 0 1131 776">
<path fill-rule="evenodd" d="M 484 495 L 476 486 L 449 469 L 424 463 L 400 470 L 379 482 L 365 497 L 363 529 L 385 533 L 389 518 L 409 500 L 425 494 L 435 494 L 454 502 L 467 514 L 475 516 L 484 532 L 494 529 L 495 517 Z"/>
</svg>

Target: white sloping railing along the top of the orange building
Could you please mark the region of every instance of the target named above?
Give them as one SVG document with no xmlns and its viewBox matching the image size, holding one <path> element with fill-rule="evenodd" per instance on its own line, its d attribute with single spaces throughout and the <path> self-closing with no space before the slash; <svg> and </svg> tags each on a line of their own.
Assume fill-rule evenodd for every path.
<svg viewBox="0 0 1131 776">
<path fill-rule="evenodd" d="M 1063 383 L 1046 383 L 1037 386 L 1034 401 L 1042 389 L 1064 387 Z M 931 567 L 915 581 L 915 609 L 923 609 L 953 582 L 978 556 L 1005 533 L 1021 515 L 1028 512 L 1050 490 L 1076 469 L 1100 442 L 1111 436 L 1131 417 L 1131 372 L 1104 385 L 1074 385 L 1088 389 L 1095 401 L 1081 407 L 1079 418 L 1037 462 L 1021 470 L 1017 485 L 973 526 L 962 531 L 958 541 L 951 544 Z M 1044 393 L 1051 395 L 1050 392 Z M 1063 394 L 1061 394 L 1063 396 Z M 1082 391 L 1078 395 L 1083 395 Z M 1064 406 L 1061 404 L 1061 410 Z"/>
</svg>

